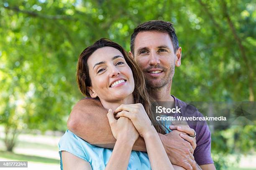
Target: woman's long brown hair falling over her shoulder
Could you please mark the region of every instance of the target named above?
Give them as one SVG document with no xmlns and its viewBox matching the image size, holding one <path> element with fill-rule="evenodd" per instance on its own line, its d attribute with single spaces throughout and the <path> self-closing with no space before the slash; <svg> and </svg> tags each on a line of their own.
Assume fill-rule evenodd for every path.
<svg viewBox="0 0 256 170">
<path fill-rule="evenodd" d="M 151 111 L 151 106 L 154 103 L 154 100 L 152 100 L 151 97 L 149 97 L 148 95 L 143 72 L 141 71 L 140 67 L 133 60 L 133 58 L 128 55 L 123 47 L 109 40 L 108 38 L 101 38 L 100 40 L 97 40 L 93 45 L 85 48 L 79 56 L 77 62 L 77 84 L 82 94 L 91 97 L 89 91 L 87 90 L 87 87 L 90 87 L 92 85 L 89 76 L 87 60 L 93 52 L 102 47 L 113 47 L 123 54 L 125 61 L 133 72 L 133 79 L 135 85 L 133 91 L 134 102 L 141 103 L 144 106 L 149 119 L 156 128 L 156 131 L 161 134 L 166 134 L 166 131 L 164 130 L 165 127 L 156 121 L 154 113 Z"/>
</svg>

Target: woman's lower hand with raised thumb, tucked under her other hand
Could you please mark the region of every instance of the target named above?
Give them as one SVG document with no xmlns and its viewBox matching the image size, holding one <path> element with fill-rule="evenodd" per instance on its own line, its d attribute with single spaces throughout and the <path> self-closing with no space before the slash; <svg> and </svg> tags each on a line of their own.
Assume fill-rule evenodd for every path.
<svg viewBox="0 0 256 170">
<path fill-rule="evenodd" d="M 139 134 L 131 120 L 127 117 L 120 117 L 116 120 L 111 109 L 108 110 L 107 117 L 114 138 L 131 142 L 133 145 L 138 139 Z"/>
</svg>

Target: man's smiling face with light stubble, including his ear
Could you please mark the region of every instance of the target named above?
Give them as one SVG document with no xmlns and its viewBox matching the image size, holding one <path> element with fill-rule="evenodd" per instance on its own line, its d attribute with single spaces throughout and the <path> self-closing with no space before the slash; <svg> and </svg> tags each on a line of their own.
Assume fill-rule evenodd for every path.
<svg viewBox="0 0 256 170">
<path fill-rule="evenodd" d="M 139 32 L 134 42 L 134 58 L 143 70 L 147 87 L 160 89 L 172 81 L 175 64 L 180 65 L 181 48 L 174 53 L 167 33 Z"/>
</svg>

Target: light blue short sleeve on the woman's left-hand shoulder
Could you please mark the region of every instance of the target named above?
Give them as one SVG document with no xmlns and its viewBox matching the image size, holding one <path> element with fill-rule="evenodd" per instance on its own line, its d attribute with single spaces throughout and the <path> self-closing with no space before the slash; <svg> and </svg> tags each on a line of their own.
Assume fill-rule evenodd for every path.
<svg viewBox="0 0 256 170">
<path fill-rule="evenodd" d="M 77 156 L 78 158 L 81 158 L 87 162 L 87 157 L 82 149 L 82 146 L 80 144 L 80 141 L 76 135 L 71 133 L 69 130 L 66 131 L 66 133 L 61 137 L 59 141 L 59 154 L 61 156 L 61 151 L 67 151 L 69 153 L 72 153 L 73 155 Z"/>
</svg>

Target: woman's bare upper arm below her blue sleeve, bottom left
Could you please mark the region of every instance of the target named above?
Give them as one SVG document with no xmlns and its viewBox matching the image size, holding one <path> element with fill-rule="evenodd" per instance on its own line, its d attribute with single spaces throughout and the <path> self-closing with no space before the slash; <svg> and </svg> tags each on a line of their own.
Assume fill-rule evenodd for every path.
<svg viewBox="0 0 256 170">
<path fill-rule="evenodd" d="M 61 151 L 63 170 L 92 170 L 90 163 L 67 151 Z"/>
</svg>

